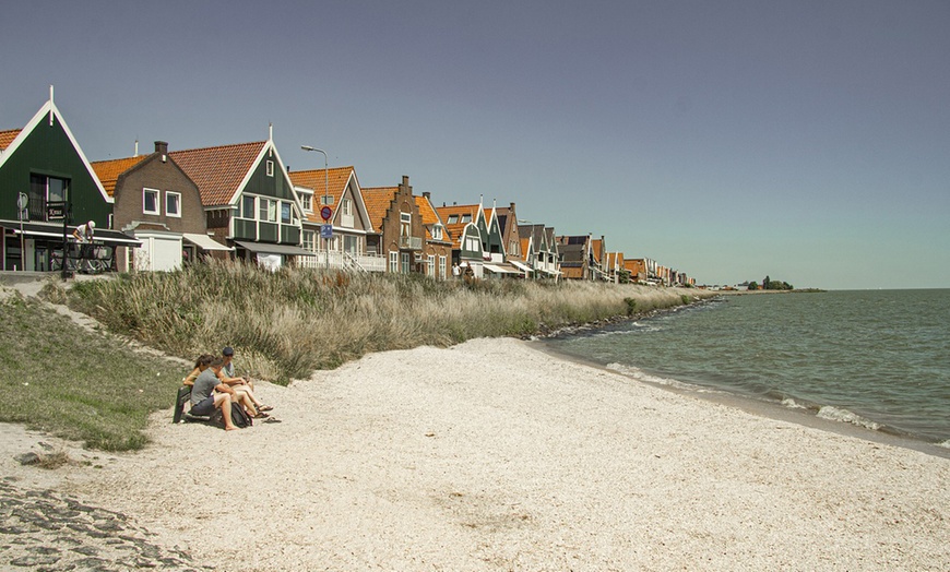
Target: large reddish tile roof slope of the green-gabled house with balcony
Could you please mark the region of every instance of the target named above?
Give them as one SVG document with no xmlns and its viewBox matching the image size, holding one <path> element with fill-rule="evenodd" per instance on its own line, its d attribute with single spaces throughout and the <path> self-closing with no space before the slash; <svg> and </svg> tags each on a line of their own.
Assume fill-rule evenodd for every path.
<svg viewBox="0 0 950 572">
<path fill-rule="evenodd" d="M 198 184 L 201 204 L 216 206 L 230 202 L 266 144 L 266 141 L 258 141 L 190 148 L 171 152 L 168 156 Z"/>
</svg>

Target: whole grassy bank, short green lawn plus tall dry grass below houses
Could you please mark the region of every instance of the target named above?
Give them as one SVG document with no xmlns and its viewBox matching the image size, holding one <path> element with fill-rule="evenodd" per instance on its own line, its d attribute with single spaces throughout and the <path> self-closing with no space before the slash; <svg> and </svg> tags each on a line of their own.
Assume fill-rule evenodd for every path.
<svg viewBox="0 0 950 572">
<path fill-rule="evenodd" d="M 697 290 L 524 281 L 438 283 L 420 276 L 270 273 L 213 263 L 122 275 L 44 296 L 112 334 L 193 359 L 234 346 L 239 371 L 276 383 L 367 353 L 525 335 L 688 303 Z M 171 405 L 187 368 L 90 333 L 22 298 L 0 302 L 0 421 L 23 421 L 90 446 L 142 446 L 147 414 Z"/>
</svg>

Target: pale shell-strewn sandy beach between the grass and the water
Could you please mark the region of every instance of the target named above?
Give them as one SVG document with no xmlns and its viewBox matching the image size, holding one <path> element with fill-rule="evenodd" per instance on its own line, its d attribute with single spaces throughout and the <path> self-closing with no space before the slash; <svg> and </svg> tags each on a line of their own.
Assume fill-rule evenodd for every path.
<svg viewBox="0 0 950 572">
<path fill-rule="evenodd" d="M 258 393 L 283 422 L 164 412 L 144 451 L 56 472 L 12 463 L 40 437 L 8 427 L 2 469 L 215 570 L 950 570 L 950 460 L 526 342 L 373 354 Z"/>
</svg>

